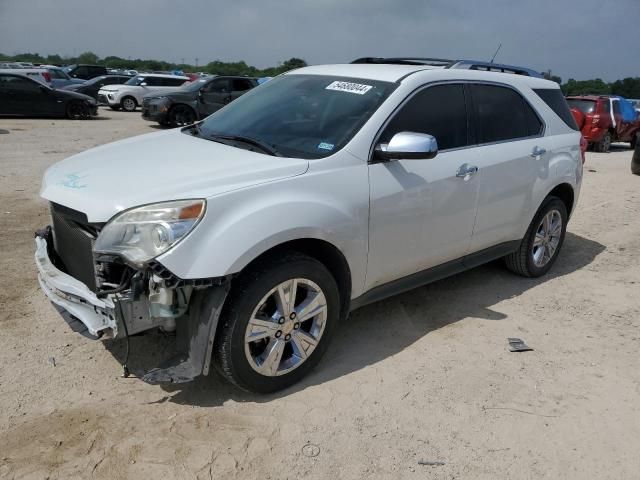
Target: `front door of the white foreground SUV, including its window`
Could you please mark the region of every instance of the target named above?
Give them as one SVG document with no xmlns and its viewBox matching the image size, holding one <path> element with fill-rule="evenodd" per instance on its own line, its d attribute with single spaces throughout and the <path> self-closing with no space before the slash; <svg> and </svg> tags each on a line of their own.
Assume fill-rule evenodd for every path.
<svg viewBox="0 0 640 480">
<path fill-rule="evenodd" d="M 428 133 L 439 153 L 369 166 L 367 289 L 467 253 L 478 197 L 468 126 L 465 87 L 443 84 L 414 94 L 384 128 L 377 143 L 402 131 Z"/>
</svg>

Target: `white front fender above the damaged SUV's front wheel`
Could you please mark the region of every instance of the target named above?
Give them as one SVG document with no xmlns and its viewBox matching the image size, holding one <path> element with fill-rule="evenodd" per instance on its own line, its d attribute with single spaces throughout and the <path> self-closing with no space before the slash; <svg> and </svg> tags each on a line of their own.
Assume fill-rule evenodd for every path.
<svg viewBox="0 0 640 480">
<path fill-rule="evenodd" d="M 222 277 L 285 242 L 318 239 L 343 253 L 352 295 L 358 295 L 368 250 L 368 177 L 364 164 L 344 170 L 321 170 L 208 199 L 200 225 L 156 260 L 183 279 Z M 363 181 L 354 181 L 360 173 Z M 318 193 L 318 182 L 326 191 Z"/>
</svg>

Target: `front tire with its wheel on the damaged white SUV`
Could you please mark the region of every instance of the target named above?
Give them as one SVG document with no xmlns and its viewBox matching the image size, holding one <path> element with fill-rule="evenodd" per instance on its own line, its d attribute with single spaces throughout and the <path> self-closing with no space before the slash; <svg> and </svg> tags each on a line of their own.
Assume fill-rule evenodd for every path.
<svg viewBox="0 0 640 480">
<path fill-rule="evenodd" d="M 297 299 L 293 313 L 285 319 L 286 290 L 279 295 L 278 287 L 291 287 L 293 279 L 298 282 Z M 278 306 L 278 299 L 284 307 Z M 314 315 L 296 322 L 295 314 L 302 318 L 303 307 L 312 299 L 319 305 L 324 301 L 324 308 L 312 307 Z M 234 280 L 216 336 L 215 366 L 243 390 L 282 390 L 317 365 L 339 318 L 338 287 L 322 263 L 295 252 L 263 261 Z M 255 340 L 246 341 L 248 336 Z"/>
</svg>

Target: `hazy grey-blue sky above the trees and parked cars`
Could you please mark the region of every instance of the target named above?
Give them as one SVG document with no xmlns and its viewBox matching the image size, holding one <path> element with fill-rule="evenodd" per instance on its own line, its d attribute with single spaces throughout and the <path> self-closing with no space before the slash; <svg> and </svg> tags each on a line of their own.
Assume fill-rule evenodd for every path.
<svg viewBox="0 0 640 480">
<path fill-rule="evenodd" d="M 0 53 L 259 68 L 361 56 L 489 60 L 578 80 L 640 76 L 640 0 L 0 0 Z"/>
</svg>

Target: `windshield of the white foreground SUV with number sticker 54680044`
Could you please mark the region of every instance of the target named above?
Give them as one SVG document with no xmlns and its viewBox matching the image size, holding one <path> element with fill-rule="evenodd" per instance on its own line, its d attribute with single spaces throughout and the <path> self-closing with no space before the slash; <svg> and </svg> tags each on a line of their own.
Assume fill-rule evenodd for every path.
<svg viewBox="0 0 640 480">
<path fill-rule="evenodd" d="M 218 110 L 193 134 L 248 137 L 286 157 L 326 157 L 358 132 L 395 87 L 359 78 L 284 75 Z"/>
</svg>

